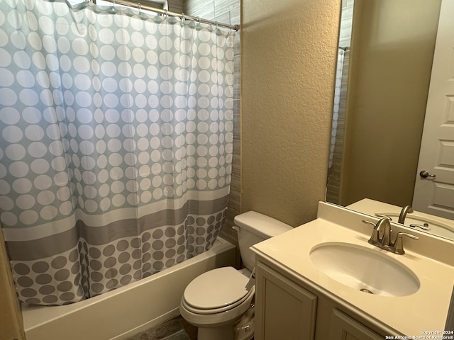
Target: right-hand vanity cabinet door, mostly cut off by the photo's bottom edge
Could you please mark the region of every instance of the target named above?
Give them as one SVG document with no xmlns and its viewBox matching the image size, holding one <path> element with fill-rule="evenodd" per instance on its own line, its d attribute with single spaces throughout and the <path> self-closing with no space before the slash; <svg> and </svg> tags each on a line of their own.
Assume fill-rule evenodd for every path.
<svg viewBox="0 0 454 340">
<path fill-rule="evenodd" d="M 339 310 L 333 310 L 330 340 L 383 340 L 360 322 Z"/>
</svg>

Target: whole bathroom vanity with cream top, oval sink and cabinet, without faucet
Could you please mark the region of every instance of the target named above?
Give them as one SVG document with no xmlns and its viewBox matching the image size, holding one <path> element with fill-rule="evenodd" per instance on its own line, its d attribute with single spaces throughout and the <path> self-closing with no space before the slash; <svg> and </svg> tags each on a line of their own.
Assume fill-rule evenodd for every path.
<svg viewBox="0 0 454 340">
<path fill-rule="evenodd" d="M 405 254 L 368 242 L 380 219 L 319 203 L 316 220 L 255 244 L 255 339 L 443 339 L 454 242 L 406 232 Z M 407 338 L 405 338 L 407 337 Z M 409 338 L 408 338 L 409 337 Z M 452 339 L 452 338 L 445 338 Z"/>
</svg>

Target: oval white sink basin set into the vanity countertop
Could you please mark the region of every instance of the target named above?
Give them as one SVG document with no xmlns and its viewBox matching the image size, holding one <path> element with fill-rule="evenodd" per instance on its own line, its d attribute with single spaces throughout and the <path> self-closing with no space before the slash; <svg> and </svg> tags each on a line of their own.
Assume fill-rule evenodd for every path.
<svg viewBox="0 0 454 340">
<path fill-rule="evenodd" d="M 405 296 L 419 290 L 419 280 L 414 273 L 379 249 L 329 242 L 314 246 L 310 257 L 321 272 L 358 291 Z"/>
</svg>

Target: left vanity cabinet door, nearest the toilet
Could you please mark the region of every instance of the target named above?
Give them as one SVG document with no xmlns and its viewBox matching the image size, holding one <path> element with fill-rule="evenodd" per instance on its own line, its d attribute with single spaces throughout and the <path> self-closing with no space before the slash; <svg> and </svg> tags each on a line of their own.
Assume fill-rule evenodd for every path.
<svg viewBox="0 0 454 340">
<path fill-rule="evenodd" d="M 257 265 L 255 340 L 313 340 L 316 295 L 263 263 Z"/>
</svg>

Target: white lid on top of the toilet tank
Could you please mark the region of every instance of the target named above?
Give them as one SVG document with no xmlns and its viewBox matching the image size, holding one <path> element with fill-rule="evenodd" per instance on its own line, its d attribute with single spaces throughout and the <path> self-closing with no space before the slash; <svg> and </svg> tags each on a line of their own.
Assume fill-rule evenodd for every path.
<svg viewBox="0 0 454 340">
<path fill-rule="evenodd" d="M 284 222 L 255 211 L 243 212 L 243 214 L 236 215 L 233 222 L 235 222 L 236 226 L 264 238 L 273 237 L 293 229 L 292 226 Z"/>
</svg>

